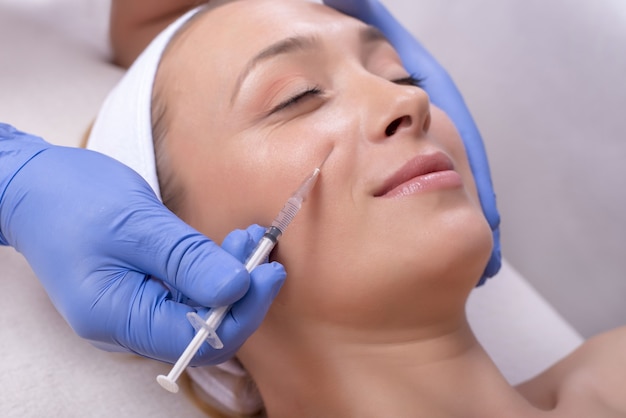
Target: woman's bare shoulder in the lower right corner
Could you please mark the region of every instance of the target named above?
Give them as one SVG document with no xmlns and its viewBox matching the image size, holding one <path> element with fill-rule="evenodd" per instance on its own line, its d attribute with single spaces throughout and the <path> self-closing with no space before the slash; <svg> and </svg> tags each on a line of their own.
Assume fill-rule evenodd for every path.
<svg viewBox="0 0 626 418">
<path fill-rule="evenodd" d="M 626 326 L 590 338 L 518 390 L 542 409 L 626 417 Z"/>
</svg>

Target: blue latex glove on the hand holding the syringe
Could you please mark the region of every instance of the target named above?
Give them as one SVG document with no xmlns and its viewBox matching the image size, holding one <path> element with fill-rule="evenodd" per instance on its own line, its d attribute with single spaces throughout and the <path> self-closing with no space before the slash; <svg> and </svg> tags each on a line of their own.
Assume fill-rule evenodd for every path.
<svg viewBox="0 0 626 418">
<path fill-rule="evenodd" d="M 259 231 L 227 237 L 235 257 L 168 211 L 128 167 L 0 124 L 0 243 L 26 257 L 57 310 L 101 348 L 174 362 L 195 333 L 185 316 L 192 305 L 236 302 L 220 327 L 225 348 L 204 344 L 193 365 L 232 356 L 285 279 L 278 263 L 249 275 L 240 262 Z"/>
</svg>

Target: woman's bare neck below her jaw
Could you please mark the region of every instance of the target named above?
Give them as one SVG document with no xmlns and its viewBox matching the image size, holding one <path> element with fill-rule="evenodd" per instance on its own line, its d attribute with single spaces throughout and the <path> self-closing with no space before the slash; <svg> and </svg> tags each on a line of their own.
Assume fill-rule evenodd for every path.
<svg viewBox="0 0 626 418">
<path fill-rule="evenodd" d="M 293 343 L 250 367 L 272 418 L 533 416 L 464 317 L 377 341 L 313 325 L 292 331 Z"/>
</svg>

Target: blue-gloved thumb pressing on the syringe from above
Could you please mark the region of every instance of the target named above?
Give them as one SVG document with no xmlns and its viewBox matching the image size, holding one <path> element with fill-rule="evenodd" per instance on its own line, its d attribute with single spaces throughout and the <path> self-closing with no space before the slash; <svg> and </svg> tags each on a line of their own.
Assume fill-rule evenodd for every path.
<svg viewBox="0 0 626 418">
<path fill-rule="evenodd" d="M 240 299 L 250 282 L 243 264 L 167 210 L 143 183 L 123 217 L 104 217 L 116 222 L 110 230 L 124 231 L 112 262 L 123 260 L 124 267 L 158 277 L 203 306 Z"/>
</svg>

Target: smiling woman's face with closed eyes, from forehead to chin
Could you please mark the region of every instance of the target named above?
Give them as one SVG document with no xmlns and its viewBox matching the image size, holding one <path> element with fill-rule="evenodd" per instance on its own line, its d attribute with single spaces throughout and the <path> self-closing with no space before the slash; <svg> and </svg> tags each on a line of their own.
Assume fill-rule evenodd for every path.
<svg viewBox="0 0 626 418">
<path fill-rule="evenodd" d="M 491 233 L 465 150 L 408 77 L 373 28 L 293 0 L 219 7 L 164 58 L 179 215 L 212 239 L 269 225 L 331 152 L 274 253 L 273 315 L 375 326 L 480 277 Z"/>
</svg>

